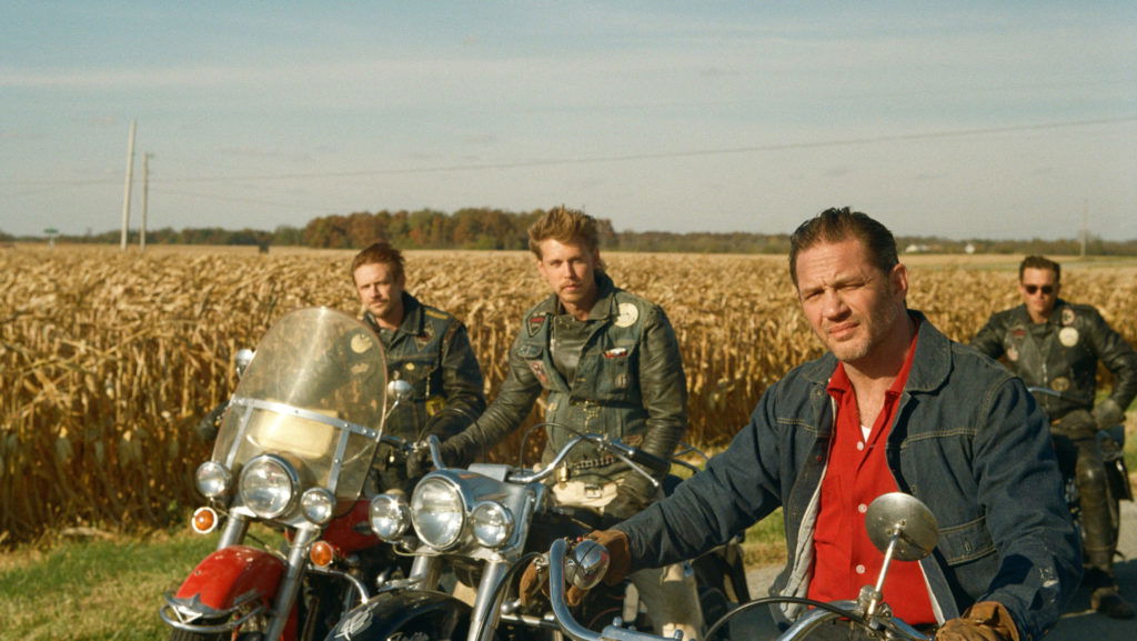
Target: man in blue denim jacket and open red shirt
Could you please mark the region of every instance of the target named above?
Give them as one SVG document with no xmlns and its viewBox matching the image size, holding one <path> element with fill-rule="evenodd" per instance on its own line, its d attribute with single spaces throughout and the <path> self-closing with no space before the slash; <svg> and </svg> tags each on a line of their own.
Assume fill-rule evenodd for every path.
<svg viewBox="0 0 1137 641">
<path fill-rule="evenodd" d="M 891 486 L 940 526 L 929 557 L 891 566 L 883 595 L 894 610 L 938 625 L 944 641 L 1043 635 L 1081 559 L 1048 429 L 1022 381 L 907 310 L 895 240 L 864 214 L 829 209 L 803 223 L 790 274 L 830 353 L 771 386 L 705 471 L 591 535 L 612 554 L 605 580 L 695 557 L 780 507 L 789 562 L 772 592 L 856 599 L 853 586 L 873 583 L 880 565 L 865 552 L 864 490 Z"/>
</svg>

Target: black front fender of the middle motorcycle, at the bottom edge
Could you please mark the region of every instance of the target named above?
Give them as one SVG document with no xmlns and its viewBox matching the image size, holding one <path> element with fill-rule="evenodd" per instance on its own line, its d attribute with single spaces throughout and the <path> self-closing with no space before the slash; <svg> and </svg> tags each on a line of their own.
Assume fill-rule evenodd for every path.
<svg viewBox="0 0 1137 641">
<path fill-rule="evenodd" d="M 325 641 L 465 639 L 470 613 L 449 594 L 396 589 L 343 615 Z"/>
</svg>

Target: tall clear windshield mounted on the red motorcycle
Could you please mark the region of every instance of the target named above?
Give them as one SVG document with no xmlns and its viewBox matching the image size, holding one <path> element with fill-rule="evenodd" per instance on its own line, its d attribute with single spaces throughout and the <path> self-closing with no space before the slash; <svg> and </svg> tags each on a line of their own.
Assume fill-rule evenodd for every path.
<svg viewBox="0 0 1137 641">
<path fill-rule="evenodd" d="M 375 332 L 325 307 L 281 318 L 257 345 L 222 421 L 213 460 L 234 475 L 262 454 L 297 471 L 300 491 L 359 495 L 375 452 L 387 385 Z"/>
</svg>

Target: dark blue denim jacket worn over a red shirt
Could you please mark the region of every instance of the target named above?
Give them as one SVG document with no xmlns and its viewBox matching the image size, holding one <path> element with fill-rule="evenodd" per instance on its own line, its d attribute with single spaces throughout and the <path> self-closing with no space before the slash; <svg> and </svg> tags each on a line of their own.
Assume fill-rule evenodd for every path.
<svg viewBox="0 0 1137 641">
<path fill-rule="evenodd" d="M 1049 430 L 1020 379 L 912 313 L 921 320 L 916 354 L 886 460 L 901 491 L 927 503 L 940 527 L 936 550 L 920 561 L 932 608 L 943 623 L 977 601 L 998 601 L 1032 641 L 1057 622 L 1081 578 Z M 771 592 L 804 597 L 836 365 L 825 354 L 790 371 L 705 471 L 616 526 L 631 542 L 632 568 L 695 557 L 781 507 L 789 560 Z"/>
</svg>

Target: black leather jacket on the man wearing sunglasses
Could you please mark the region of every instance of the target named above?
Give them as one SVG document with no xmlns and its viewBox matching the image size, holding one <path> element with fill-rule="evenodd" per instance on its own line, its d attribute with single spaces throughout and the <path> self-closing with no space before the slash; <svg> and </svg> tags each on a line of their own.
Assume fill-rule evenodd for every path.
<svg viewBox="0 0 1137 641">
<path fill-rule="evenodd" d="M 1005 356 L 1028 386 L 1061 394 L 1035 395 L 1051 420 L 1094 408 L 1097 361 L 1113 372 L 1117 410 L 1124 412 L 1137 395 L 1137 353 L 1090 305 L 1059 298 L 1045 323 L 1032 323 L 1026 305 L 997 312 L 971 344 L 993 359 Z"/>
</svg>

